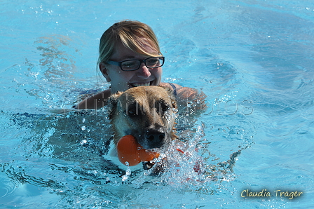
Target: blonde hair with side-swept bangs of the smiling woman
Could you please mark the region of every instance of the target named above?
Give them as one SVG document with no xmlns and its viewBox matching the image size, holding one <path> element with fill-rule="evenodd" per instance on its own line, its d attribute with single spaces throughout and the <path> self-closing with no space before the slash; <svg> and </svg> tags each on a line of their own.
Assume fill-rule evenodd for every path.
<svg viewBox="0 0 314 209">
<path fill-rule="evenodd" d="M 110 59 L 118 43 L 122 43 L 135 53 L 156 56 L 146 52 L 144 46 L 149 45 L 158 52 L 158 55 L 161 55 L 158 40 L 151 27 L 139 21 L 123 20 L 116 22 L 102 34 L 97 65 L 100 62 L 106 63 Z"/>
</svg>

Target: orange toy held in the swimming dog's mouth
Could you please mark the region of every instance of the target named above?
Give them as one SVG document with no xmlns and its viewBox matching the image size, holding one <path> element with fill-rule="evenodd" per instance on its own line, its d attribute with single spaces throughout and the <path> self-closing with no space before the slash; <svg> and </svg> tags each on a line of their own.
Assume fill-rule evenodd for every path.
<svg viewBox="0 0 314 209">
<path fill-rule="evenodd" d="M 136 166 L 140 162 L 151 161 L 158 158 L 157 152 L 143 149 L 132 135 L 125 135 L 116 144 L 118 158 L 123 165 L 128 162 L 128 166 Z"/>
</svg>

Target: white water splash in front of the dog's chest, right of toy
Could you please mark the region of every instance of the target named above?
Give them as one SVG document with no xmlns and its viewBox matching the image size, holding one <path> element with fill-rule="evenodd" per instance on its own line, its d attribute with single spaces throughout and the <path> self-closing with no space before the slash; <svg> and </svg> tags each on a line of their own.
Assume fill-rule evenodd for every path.
<svg viewBox="0 0 314 209">
<path fill-rule="evenodd" d="M 150 162 L 154 164 L 151 169 L 135 172 L 131 176 L 128 167 L 122 182 L 130 182 L 135 188 L 143 187 L 145 182 L 168 184 L 176 189 L 206 187 L 204 183 L 211 183 L 213 178 L 206 170 L 210 166 L 206 166 L 207 162 L 199 152 L 202 149 L 199 142 L 205 136 L 204 127 L 204 124 L 198 126 L 195 137 L 188 142 L 173 140 L 167 150 L 158 150 L 160 156 Z"/>
</svg>

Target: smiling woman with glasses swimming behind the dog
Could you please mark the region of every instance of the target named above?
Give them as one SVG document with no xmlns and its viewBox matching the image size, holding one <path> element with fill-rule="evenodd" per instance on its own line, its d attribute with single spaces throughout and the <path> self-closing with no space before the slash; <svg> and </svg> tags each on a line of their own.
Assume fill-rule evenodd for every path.
<svg viewBox="0 0 314 209">
<path fill-rule="evenodd" d="M 88 97 L 77 109 L 98 109 L 107 104 L 111 94 L 136 86 L 164 86 L 172 88 L 179 109 L 193 102 L 195 107 L 205 107 L 205 95 L 198 95 L 193 88 L 174 83 L 161 83 L 162 66 L 165 62 L 158 40 L 148 25 L 131 20 L 117 22 L 107 29 L 100 39 L 100 57 L 97 65 L 111 83 L 107 90 Z"/>
</svg>

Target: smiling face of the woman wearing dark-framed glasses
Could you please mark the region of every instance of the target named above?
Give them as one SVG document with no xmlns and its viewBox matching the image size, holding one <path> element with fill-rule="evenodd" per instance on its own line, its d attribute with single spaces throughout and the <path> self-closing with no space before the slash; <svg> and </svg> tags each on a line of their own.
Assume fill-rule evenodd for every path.
<svg viewBox="0 0 314 209">
<path fill-rule="evenodd" d="M 156 54 L 156 56 L 158 56 L 158 51 L 151 48 L 151 46 L 146 45 L 144 48 L 147 53 Z M 144 60 L 145 58 L 149 57 L 139 55 L 129 48 L 126 48 L 121 43 L 114 49 L 114 53 L 111 55 L 110 60 L 121 62 L 124 60 Z M 107 81 L 111 82 L 111 93 L 125 91 L 128 88 L 135 86 L 158 86 L 159 83 L 161 83 L 161 74 L 163 72 L 161 67 L 147 68 L 144 62 L 141 63 L 139 69 L 129 72 L 123 71 L 119 66 L 101 62 L 100 70 Z"/>
</svg>

